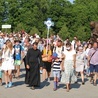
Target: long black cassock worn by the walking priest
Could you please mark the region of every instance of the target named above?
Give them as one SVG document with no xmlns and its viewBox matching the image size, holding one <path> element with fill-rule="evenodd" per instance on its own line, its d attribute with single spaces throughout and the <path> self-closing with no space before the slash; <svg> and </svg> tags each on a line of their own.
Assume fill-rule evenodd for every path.
<svg viewBox="0 0 98 98">
<path fill-rule="evenodd" d="M 29 49 L 26 56 L 26 63 L 30 66 L 29 86 L 40 86 L 40 63 L 41 53 L 38 49 Z"/>
</svg>

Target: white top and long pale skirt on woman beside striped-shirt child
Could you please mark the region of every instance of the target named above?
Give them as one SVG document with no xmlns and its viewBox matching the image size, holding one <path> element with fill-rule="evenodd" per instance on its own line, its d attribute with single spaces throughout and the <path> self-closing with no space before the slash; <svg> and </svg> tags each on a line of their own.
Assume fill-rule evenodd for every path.
<svg viewBox="0 0 98 98">
<path fill-rule="evenodd" d="M 61 82 L 62 83 L 75 83 L 77 81 L 77 77 L 75 76 L 74 70 L 74 61 L 73 55 L 76 54 L 74 50 L 65 51 L 65 60 L 64 60 L 64 72 L 62 73 Z"/>
</svg>

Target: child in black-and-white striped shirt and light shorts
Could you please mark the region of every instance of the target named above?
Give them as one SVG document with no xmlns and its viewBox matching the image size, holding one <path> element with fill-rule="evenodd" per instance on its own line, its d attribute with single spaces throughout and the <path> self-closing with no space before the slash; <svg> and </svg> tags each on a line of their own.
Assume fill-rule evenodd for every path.
<svg viewBox="0 0 98 98">
<path fill-rule="evenodd" d="M 53 88 L 54 91 L 57 90 L 57 87 L 59 85 L 58 82 L 60 81 L 60 71 L 61 71 L 60 64 L 61 64 L 61 61 L 57 57 L 57 54 L 56 53 L 53 54 L 52 67 L 53 67 L 53 77 L 54 77 L 54 88 Z"/>
</svg>

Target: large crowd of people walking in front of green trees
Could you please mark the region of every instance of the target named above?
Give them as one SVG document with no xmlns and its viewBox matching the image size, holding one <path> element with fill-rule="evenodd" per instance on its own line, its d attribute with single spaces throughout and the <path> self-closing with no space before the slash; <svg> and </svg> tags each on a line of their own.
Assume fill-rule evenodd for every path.
<svg viewBox="0 0 98 98">
<path fill-rule="evenodd" d="M 33 36 L 26 32 L 0 32 L 0 85 L 12 87 L 12 79 L 20 79 L 20 68 L 24 63 L 25 84 L 32 90 L 40 86 L 40 74 L 43 83 L 50 81 L 53 73 L 53 90 L 56 91 L 59 82 L 66 84 L 69 92 L 71 83 L 78 82 L 81 75 L 81 84 L 85 78 L 96 86 L 98 77 L 98 40 L 81 42 L 77 37 L 72 41 L 66 38 L 63 41 L 58 35 L 51 35 L 48 39 Z M 4 81 L 2 81 L 4 73 Z"/>
</svg>

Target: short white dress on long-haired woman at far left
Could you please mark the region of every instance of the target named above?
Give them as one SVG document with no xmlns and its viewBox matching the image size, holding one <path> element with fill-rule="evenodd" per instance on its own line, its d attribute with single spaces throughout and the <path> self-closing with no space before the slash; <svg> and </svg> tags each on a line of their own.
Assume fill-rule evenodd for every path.
<svg viewBox="0 0 98 98">
<path fill-rule="evenodd" d="M 13 70 L 14 69 L 14 48 L 12 49 L 12 53 L 10 53 L 9 50 L 7 50 L 6 52 L 3 51 L 3 55 L 2 55 L 2 70 Z"/>
</svg>

